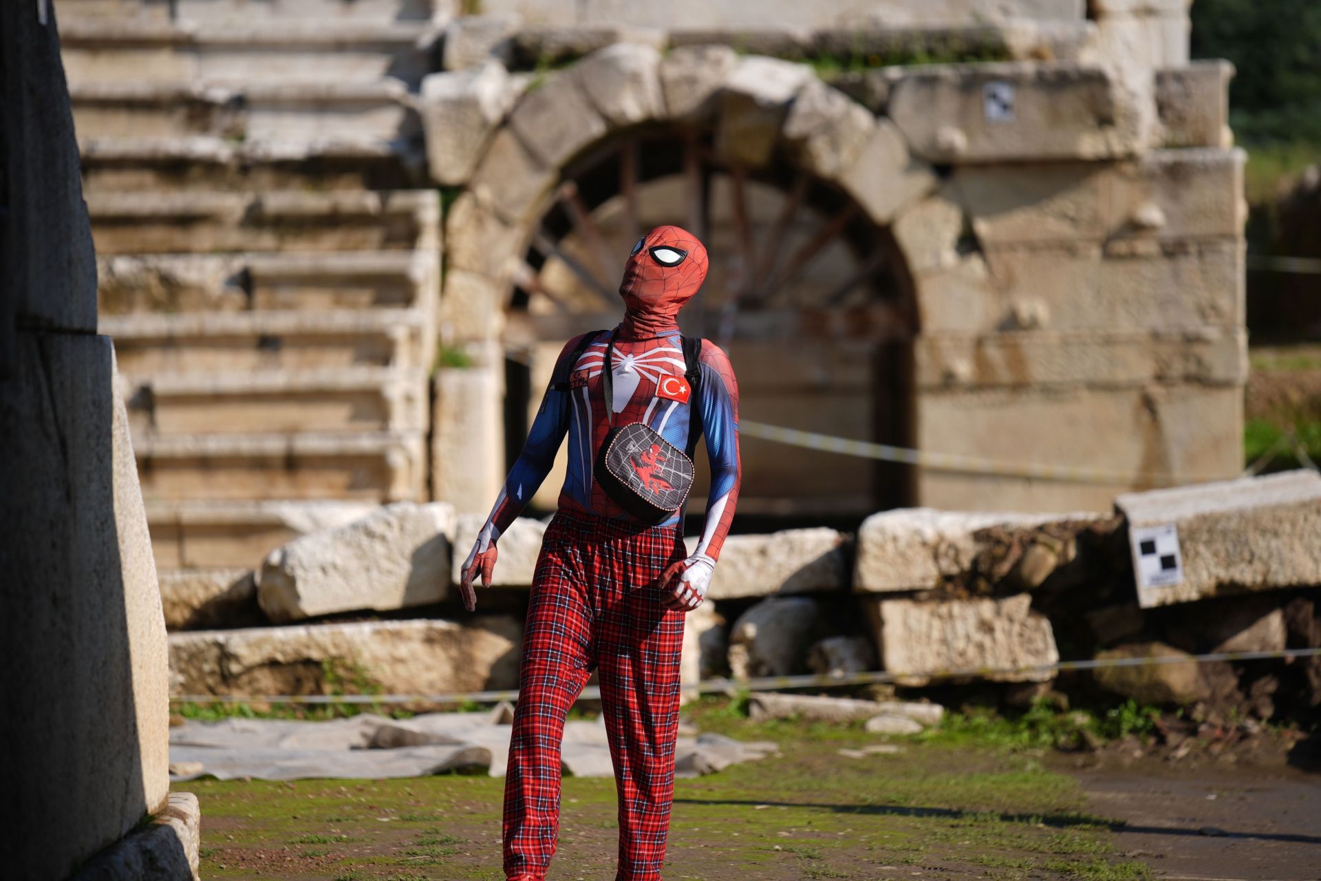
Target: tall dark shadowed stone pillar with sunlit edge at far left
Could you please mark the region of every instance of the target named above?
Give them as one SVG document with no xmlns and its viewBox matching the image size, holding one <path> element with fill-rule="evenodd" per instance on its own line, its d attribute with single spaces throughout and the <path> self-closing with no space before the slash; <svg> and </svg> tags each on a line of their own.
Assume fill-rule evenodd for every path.
<svg viewBox="0 0 1321 881">
<path fill-rule="evenodd" d="M 0 8 L 0 58 L 5 873 L 42 881 L 165 807 L 168 670 L 49 4 Z"/>
</svg>

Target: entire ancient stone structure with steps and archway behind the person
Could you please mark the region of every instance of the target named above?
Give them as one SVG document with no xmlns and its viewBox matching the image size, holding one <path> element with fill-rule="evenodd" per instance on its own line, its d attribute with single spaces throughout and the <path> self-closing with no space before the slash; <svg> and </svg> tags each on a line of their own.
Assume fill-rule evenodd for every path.
<svg viewBox="0 0 1321 881">
<path fill-rule="evenodd" d="M 219 584 L 343 503 L 485 511 L 506 417 L 660 222 L 712 243 L 686 329 L 728 330 L 745 419 L 1098 474 L 749 439 L 748 512 L 1067 511 L 1239 466 L 1232 71 L 1188 63 L 1185 0 L 165 7 L 69 0 L 65 49 L 164 569 Z"/>
</svg>

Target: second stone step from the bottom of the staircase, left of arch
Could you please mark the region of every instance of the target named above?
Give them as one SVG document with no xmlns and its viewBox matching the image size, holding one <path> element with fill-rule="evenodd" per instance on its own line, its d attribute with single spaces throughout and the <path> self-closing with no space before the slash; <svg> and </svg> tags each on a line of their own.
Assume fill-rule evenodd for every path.
<svg viewBox="0 0 1321 881">
<path fill-rule="evenodd" d="M 135 432 L 143 497 L 165 501 L 419 501 L 421 432 L 157 435 Z"/>
</svg>

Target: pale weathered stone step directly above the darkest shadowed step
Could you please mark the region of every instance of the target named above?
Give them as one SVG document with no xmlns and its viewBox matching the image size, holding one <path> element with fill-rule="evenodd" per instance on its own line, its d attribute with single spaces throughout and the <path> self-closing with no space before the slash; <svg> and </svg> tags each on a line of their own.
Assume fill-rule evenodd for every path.
<svg viewBox="0 0 1321 881">
<path fill-rule="evenodd" d="M 416 99 L 395 79 L 379 82 L 198 83 L 90 82 L 70 85 L 83 153 L 112 155 L 118 139 L 157 144 L 168 137 L 210 136 L 215 145 L 188 144 L 202 157 L 223 148 L 260 159 L 300 145 L 333 144 L 345 132 L 359 149 L 399 152 L 420 144 Z M 143 140 L 148 139 L 148 140 Z M 207 149 L 202 149 L 206 147 Z M 182 155 L 181 149 L 174 151 Z"/>
</svg>

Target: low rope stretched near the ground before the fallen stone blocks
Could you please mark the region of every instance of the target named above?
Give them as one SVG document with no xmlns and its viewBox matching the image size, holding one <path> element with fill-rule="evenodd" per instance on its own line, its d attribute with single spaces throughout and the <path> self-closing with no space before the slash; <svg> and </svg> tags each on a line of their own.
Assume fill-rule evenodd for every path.
<svg viewBox="0 0 1321 881">
<path fill-rule="evenodd" d="M 785 688 L 838 688 L 840 686 L 904 684 L 918 679 L 933 682 L 946 679 L 995 679 L 1007 675 L 1062 672 L 1071 670 L 1102 670 L 1106 667 L 1157 667 L 1162 664 L 1213 663 L 1244 660 L 1281 660 L 1287 658 L 1321 658 L 1321 649 L 1283 649 L 1275 651 L 1215 651 L 1202 655 L 1161 656 L 1161 658 L 1091 658 L 1087 660 L 1059 660 L 1049 664 L 1025 664 L 1021 667 L 958 667 L 951 670 L 927 670 L 922 672 L 873 671 L 847 674 L 843 676 L 760 676 L 756 679 L 704 679 L 686 691 L 701 693 L 732 693 L 781 691 Z M 579 700 L 600 700 L 601 689 L 596 686 L 584 688 Z M 445 695 L 178 695 L 170 703 L 192 704 L 495 704 L 502 700 L 518 700 L 518 689 L 469 691 Z"/>
</svg>

